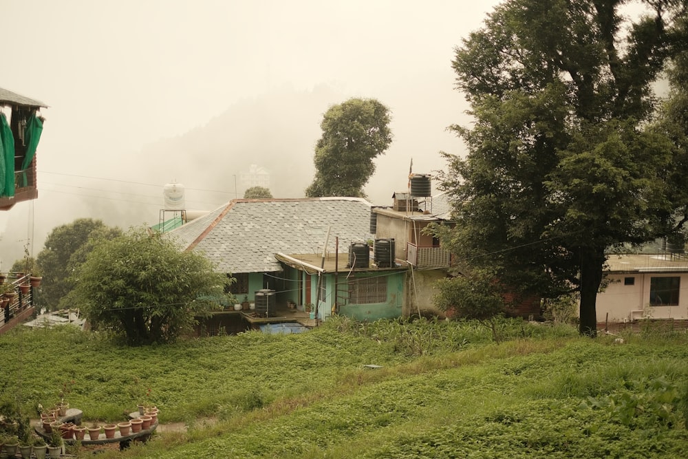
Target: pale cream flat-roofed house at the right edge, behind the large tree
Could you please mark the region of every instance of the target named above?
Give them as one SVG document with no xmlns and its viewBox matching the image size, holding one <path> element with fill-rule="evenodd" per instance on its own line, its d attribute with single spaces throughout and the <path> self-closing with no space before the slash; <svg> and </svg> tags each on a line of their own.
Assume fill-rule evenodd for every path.
<svg viewBox="0 0 688 459">
<path fill-rule="evenodd" d="M 609 285 L 597 294 L 598 323 L 688 319 L 688 259 L 682 254 L 611 255 Z"/>
</svg>

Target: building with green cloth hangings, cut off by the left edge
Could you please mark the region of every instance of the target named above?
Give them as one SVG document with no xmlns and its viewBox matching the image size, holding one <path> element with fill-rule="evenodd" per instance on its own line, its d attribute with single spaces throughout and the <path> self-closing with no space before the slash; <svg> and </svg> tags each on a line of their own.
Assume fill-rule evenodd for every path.
<svg viewBox="0 0 688 459">
<path fill-rule="evenodd" d="M 36 147 L 43 131 L 39 100 L 0 88 L 0 210 L 38 198 Z"/>
</svg>

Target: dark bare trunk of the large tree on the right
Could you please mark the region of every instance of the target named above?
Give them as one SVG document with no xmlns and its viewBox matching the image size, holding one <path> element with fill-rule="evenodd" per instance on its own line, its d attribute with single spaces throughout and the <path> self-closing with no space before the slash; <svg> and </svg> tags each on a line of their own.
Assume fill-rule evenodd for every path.
<svg viewBox="0 0 688 459">
<path fill-rule="evenodd" d="M 597 333 L 597 292 L 602 283 L 604 248 L 581 249 L 581 310 L 579 332 L 590 337 Z"/>
</svg>

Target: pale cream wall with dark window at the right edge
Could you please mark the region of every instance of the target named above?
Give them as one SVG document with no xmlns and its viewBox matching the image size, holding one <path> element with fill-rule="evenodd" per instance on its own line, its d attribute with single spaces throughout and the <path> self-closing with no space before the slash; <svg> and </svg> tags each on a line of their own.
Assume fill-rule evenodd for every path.
<svg viewBox="0 0 688 459">
<path fill-rule="evenodd" d="M 625 285 L 625 277 L 633 277 L 633 285 Z M 678 306 L 649 306 L 652 277 L 680 277 Z M 609 275 L 612 283 L 597 294 L 597 321 L 623 322 L 643 319 L 688 319 L 688 273 L 634 273 Z"/>
</svg>

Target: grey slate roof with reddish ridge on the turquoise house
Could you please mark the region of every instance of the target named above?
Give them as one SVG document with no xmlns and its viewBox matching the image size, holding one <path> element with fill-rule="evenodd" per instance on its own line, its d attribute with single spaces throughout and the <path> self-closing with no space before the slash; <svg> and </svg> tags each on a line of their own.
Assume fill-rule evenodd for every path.
<svg viewBox="0 0 688 459">
<path fill-rule="evenodd" d="M 281 270 L 275 254 L 348 253 L 371 239 L 370 203 L 361 198 L 237 199 L 168 233 L 184 250 L 199 250 L 222 273 Z"/>
</svg>

